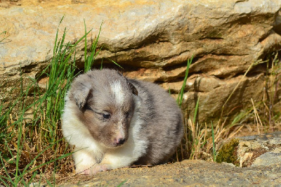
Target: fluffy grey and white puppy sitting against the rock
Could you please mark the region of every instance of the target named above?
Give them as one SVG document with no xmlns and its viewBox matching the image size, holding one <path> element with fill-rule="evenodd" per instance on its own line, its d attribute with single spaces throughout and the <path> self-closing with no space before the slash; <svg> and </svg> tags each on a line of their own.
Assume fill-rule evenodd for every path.
<svg viewBox="0 0 281 187">
<path fill-rule="evenodd" d="M 93 70 L 72 82 L 63 135 L 77 173 L 166 162 L 183 136 L 180 108 L 157 84 Z"/>
</svg>

